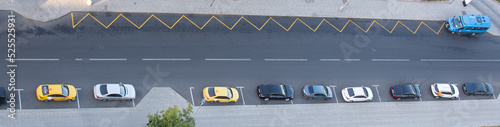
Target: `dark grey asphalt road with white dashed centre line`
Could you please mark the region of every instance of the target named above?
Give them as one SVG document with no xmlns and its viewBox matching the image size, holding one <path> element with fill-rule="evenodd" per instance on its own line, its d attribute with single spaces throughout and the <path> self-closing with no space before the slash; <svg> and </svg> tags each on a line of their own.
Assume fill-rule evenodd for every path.
<svg viewBox="0 0 500 127">
<path fill-rule="evenodd" d="M 72 28 L 71 15 L 48 23 L 21 16 L 16 19 L 16 57 L 20 59 L 16 62 L 16 88 L 24 89 L 23 109 L 131 107 L 154 86 L 172 87 L 195 105 L 200 104 L 204 87 L 226 85 L 241 89 L 236 105 L 344 103 L 340 91 L 350 86 L 372 88 L 375 97 L 369 103 L 389 102 L 396 101 L 389 95 L 389 87 L 404 83 L 420 84 L 422 101 L 449 101 L 432 97 L 429 87 L 436 82 L 461 86 L 464 82 L 483 81 L 493 85 L 495 97 L 500 91 L 499 37 L 451 35 L 444 28 L 436 34 L 443 22 L 424 21 L 435 30 L 432 31 L 424 25 L 418 27 L 421 21 L 401 21 L 408 28 L 398 25 L 391 31 L 398 21 L 377 20 L 391 31 L 388 32 L 377 25 L 370 27 L 373 20 L 352 19 L 356 23 L 353 24 L 349 19 L 327 19 L 338 29 L 345 26 L 339 32 L 324 24 L 312 31 L 306 25 L 294 23 L 296 17 L 273 17 L 284 26 L 281 27 L 268 21 L 269 17 L 249 16 L 245 18 L 252 23 L 240 21 L 228 29 L 215 19 L 203 25 L 211 15 L 186 15 L 189 21 L 179 20 L 180 14 L 155 14 L 169 26 L 176 25 L 170 29 L 158 20 L 149 20 L 138 29 L 122 17 L 114 20 L 119 13 L 91 14 L 106 27 L 112 24 L 105 28 L 87 16 Z M 75 23 L 85 15 L 75 13 Z M 123 17 L 140 26 L 150 15 L 123 14 Z M 229 27 L 241 18 L 216 17 Z M 300 19 L 313 29 L 322 21 Z M 0 26 L 7 26 L 6 20 L 1 20 Z M 7 40 L 5 31 L 0 33 L 0 40 Z M 6 44 L 0 45 L 0 52 L 7 52 Z M 7 63 L 1 64 L 6 67 Z M 0 79 L 8 84 L 8 75 Z M 100 102 L 93 98 L 95 84 L 117 82 L 134 84 L 137 99 Z M 81 88 L 79 101 L 38 101 L 35 89 L 46 83 Z M 290 102 L 259 99 L 256 87 L 267 83 L 292 85 L 295 99 Z M 336 99 L 306 100 L 301 93 L 306 84 L 334 86 Z M 460 94 L 461 100 L 495 97 Z"/>
</svg>

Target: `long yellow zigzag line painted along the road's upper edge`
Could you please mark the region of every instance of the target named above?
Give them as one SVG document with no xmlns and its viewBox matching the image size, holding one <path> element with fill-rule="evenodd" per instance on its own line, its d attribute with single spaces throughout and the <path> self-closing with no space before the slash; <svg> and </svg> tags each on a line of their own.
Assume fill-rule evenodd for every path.
<svg viewBox="0 0 500 127">
<path fill-rule="evenodd" d="M 311 26 L 309 26 L 307 23 L 305 23 L 304 21 L 302 21 L 300 18 L 296 18 L 295 21 L 293 21 L 292 25 L 290 25 L 288 28 L 286 28 L 285 26 L 281 25 L 278 21 L 274 20 L 272 17 L 269 17 L 266 22 L 264 22 L 264 24 L 262 24 L 262 26 L 260 27 L 257 27 L 255 24 L 253 24 L 252 22 L 250 22 L 247 18 L 241 16 L 238 21 L 236 21 L 236 23 L 234 23 L 231 27 L 229 27 L 228 25 L 226 25 L 224 22 L 222 22 L 219 18 L 215 17 L 215 16 L 212 16 L 210 17 L 210 19 L 208 19 L 208 21 L 203 24 L 203 26 L 199 26 L 198 24 L 194 23 L 191 19 L 189 19 L 188 17 L 186 17 L 185 15 L 182 15 L 181 17 L 179 17 L 179 19 L 174 23 L 172 24 L 172 26 L 169 26 L 167 25 L 165 22 L 163 22 L 162 20 L 160 20 L 158 17 L 156 17 L 154 14 L 151 14 L 151 16 L 148 17 L 148 19 L 146 19 L 146 21 L 144 21 L 140 26 L 137 26 L 137 24 L 135 24 L 134 22 L 130 21 L 130 19 L 128 19 L 127 17 L 125 17 L 124 15 L 120 14 L 118 15 L 113 21 L 111 21 L 111 23 L 109 23 L 108 25 L 104 25 L 101 21 L 99 21 L 97 18 L 95 18 L 94 16 L 92 16 L 90 13 L 87 13 L 85 16 L 83 16 L 82 19 L 80 19 L 80 21 L 78 21 L 76 24 L 75 24 L 75 21 L 74 21 L 74 17 L 73 17 L 73 13 L 71 13 L 71 22 L 72 22 L 72 25 L 73 25 L 73 28 L 75 28 L 76 26 L 78 26 L 78 24 L 80 24 L 85 18 L 87 18 L 88 16 L 90 16 L 91 18 L 93 18 L 95 21 L 97 21 L 99 24 L 101 24 L 104 28 L 109 28 L 109 26 L 111 26 L 118 18 L 120 17 L 123 17 L 125 20 L 127 20 L 128 22 L 130 22 L 132 25 L 134 25 L 137 29 L 141 29 L 142 26 L 144 26 L 144 24 L 146 24 L 151 18 L 155 18 L 156 20 L 160 21 L 163 25 L 165 25 L 166 27 L 168 27 L 169 29 L 172 29 L 174 28 L 174 26 L 179 23 L 179 21 L 181 21 L 181 19 L 186 19 L 188 20 L 189 22 L 191 22 L 194 26 L 198 27 L 200 30 L 202 30 L 203 28 L 205 28 L 205 26 L 207 26 L 207 24 L 212 21 L 212 19 L 215 19 L 217 20 L 219 23 L 221 23 L 222 25 L 224 25 L 227 29 L 229 30 L 233 30 L 233 28 L 243 19 L 244 21 L 248 22 L 250 25 L 252 25 L 253 27 L 255 27 L 255 29 L 257 30 L 262 30 L 262 28 L 264 28 L 264 26 L 270 21 L 272 20 L 274 23 L 276 23 L 278 26 L 280 26 L 281 28 L 283 28 L 285 31 L 289 31 L 294 25 L 295 23 L 297 23 L 297 21 L 299 21 L 300 23 L 304 24 L 307 28 L 309 28 L 311 31 L 313 32 L 316 32 L 319 28 L 319 26 L 321 26 L 323 23 L 326 23 L 330 26 L 332 26 L 333 28 L 335 28 L 337 31 L 339 32 L 342 32 L 344 31 L 344 29 L 346 28 L 346 26 L 349 24 L 349 23 L 352 23 L 354 24 L 356 27 L 358 27 L 360 30 L 362 30 L 363 32 L 365 33 L 368 33 L 368 31 L 370 30 L 370 28 L 372 28 L 373 24 L 378 24 L 380 27 L 384 28 L 387 32 L 389 33 L 392 33 L 394 31 L 394 29 L 396 29 L 396 26 L 398 26 L 398 24 L 401 24 L 402 26 L 404 26 L 406 29 L 408 29 L 411 33 L 413 34 L 416 34 L 417 31 L 420 29 L 420 27 L 423 25 L 427 26 L 427 28 L 429 28 L 430 30 L 432 30 L 432 32 L 434 32 L 435 34 L 439 34 L 439 32 L 441 32 L 441 29 L 443 29 L 443 26 L 444 26 L 444 22 L 443 24 L 441 25 L 441 27 L 439 28 L 438 31 L 432 29 L 429 25 L 427 25 L 425 22 L 421 21 L 420 24 L 418 25 L 417 29 L 415 29 L 415 31 L 413 31 L 412 29 L 408 28 L 408 26 L 406 26 L 405 24 L 403 24 L 401 21 L 398 21 L 396 22 L 396 24 L 394 25 L 394 27 L 392 27 L 391 30 L 385 28 L 382 24 L 380 24 L 377 20 L 373 20 L 372 23 L 370 24 L 370 26 L 368 28 L 363 29 L 361 28 L 357 23 L 355 23 L 354 21 L 352 20 L 348 20 L 344 27 L 342 27 L 342 29 L 339 29 L 337 28 L 335 25 L 333 25 L 332 23 L 330 23 L 329 21 L 327 21 L 326 19 L 323 19 L 321 20 L 321 22 L 318 24 L 318 26 L 316 26 L 316 28 L 312 28 Z"/>
</svg>

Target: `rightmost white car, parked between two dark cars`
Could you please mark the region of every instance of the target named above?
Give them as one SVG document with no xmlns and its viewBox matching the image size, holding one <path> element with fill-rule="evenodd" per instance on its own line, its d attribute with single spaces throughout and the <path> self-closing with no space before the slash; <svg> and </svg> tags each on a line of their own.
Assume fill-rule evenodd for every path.
<svg viewBox="0 0 500 127">
<path fill-rule="evenodd" d="M 434 83 L 431 85 L 432 95 L 436 98 L 458 98 L 457 84 L 450 83 Z"/>
</svg>

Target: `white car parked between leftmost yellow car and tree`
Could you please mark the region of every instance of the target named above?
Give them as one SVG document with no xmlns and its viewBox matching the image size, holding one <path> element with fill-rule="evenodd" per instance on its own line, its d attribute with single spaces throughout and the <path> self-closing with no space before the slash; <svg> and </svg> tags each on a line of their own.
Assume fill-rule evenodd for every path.
<svg viewBox="0 0 500 127">
<path fill-rule="evenodd" d="M 135 99 L 135 88 L 131 84 L 103 83 L 94 86 L 94 98 L 101 101 Z"/>
</svg>

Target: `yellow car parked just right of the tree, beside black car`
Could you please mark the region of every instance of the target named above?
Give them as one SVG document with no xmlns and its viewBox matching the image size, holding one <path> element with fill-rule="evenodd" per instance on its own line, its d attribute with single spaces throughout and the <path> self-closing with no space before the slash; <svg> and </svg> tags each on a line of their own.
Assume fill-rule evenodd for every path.
<svg viewBox="0 0 500 127">
<path fill-rule="evenodd" d="M 240 94 L 231 87 L 205 87 L 203 97 L 206 102 L 237 102 Z"/>
</svg>

